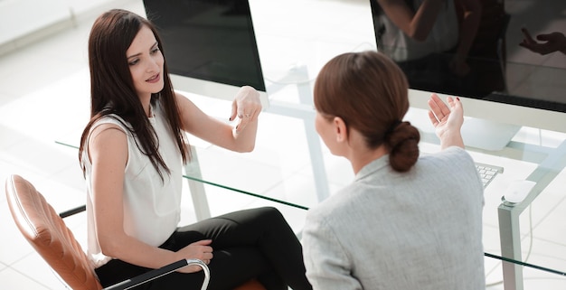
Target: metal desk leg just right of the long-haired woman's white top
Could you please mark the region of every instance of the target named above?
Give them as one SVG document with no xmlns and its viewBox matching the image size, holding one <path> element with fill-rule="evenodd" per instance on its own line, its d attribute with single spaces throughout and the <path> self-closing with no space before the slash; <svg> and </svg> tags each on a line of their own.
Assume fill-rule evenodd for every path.
<svg viewBox="0 0 566 290">
<path fill-rule="evenodd" d="M 194 178 L 203 179 L 201 166 L 199 164 L 199 158 L 193 145 L 191 145 L 191 162 L 187 163 L 184 166 L 184 173 Z M 189 190 L 191 191 L 191 197 L 193 198 L 193 207 L 194 213 L 196 215 L 196 220 L 204 220 L 210 218 L 211 210 L 208 206 L 208 200 L 206 199 L 206 192 L 204 192 L 203 182 L 193 181 L 192 179 L 188 179 L 187 182 L 189 184 Z"/>
</svg>

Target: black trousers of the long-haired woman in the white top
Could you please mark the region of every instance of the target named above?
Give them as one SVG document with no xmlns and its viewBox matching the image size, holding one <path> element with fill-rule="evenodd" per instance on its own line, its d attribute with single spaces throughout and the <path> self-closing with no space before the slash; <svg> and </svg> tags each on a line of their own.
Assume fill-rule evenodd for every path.
<svg viewBox="0 0 566 290">
<path fill-rule="evenodd" d="M 251 278 L 258 278 L 269 290 L 312 289 L 305 276 L 301 245 L 275 208 L 240 210 L 196 222 L 177 229 L 160 248 L 176 251 L 202 239 L 212 239 L 208 289 L 229 290 Z M 119 259 L 95 269 L 103 287 L 148 270 Z M 203 278 L 203 271 L 175 272 L 136 289 L 201 289 Z"/>
</svg>

